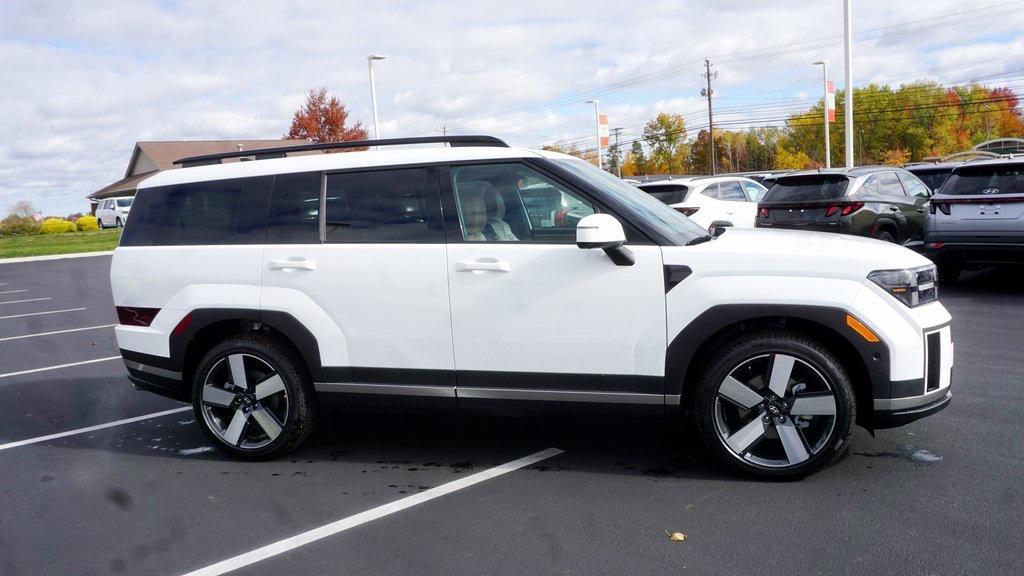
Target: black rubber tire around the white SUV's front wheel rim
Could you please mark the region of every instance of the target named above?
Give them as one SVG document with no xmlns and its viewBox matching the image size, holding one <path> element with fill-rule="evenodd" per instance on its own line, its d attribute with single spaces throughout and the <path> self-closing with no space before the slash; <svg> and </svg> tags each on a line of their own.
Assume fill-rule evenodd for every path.
<svg viewBox="0 0 1024 576">
<path fill-rule="evenodd" d="M 738 406 L 730 404 L 727 400 L 720 400 L 722 398 L 719 394 L 720 385 L 724 383 L 724 380 L 728 376 L 735 374 L 739 366 L 743 366 L 744 363 L 756 362 L 758 359 L 764 359 L 766 356 L 770 360 L 761 361 L 769 362 L 768 366 L 770 370 L 774 366 L 775 355 L 795 358 L 802 365 L 809 366 L 815 370 L 826 383 L 827 387 L 830 388 L 831 397 L 835 399 L 835 415 L 820 416 L 824 420 L 820 424 L 815 424 L 820 426 L 819 429 L 827 429 L 827 434 L 822 435 L 818 439 L 816 451 L 814 448 L 811 448 L 807 451 L 807 459 L 793 465 L 762 465 L 749 459 L 756 449 L 760 450 L 762 447 L 765 450 L 772 449 L 774 447 L 772 443 L 777 443 L 779 448 L 784 449 L 786 457 L 788 456 L 788 449 L 782 446 L 783 443 L 775 420 L 771 419 L 772 417 L 768 415 L 766 410 L 770 406 L 758 405 L 750 408 L 749 412 L 746 412 L 749 414 L 745 420 L 746 423 L 753 423 L 755 420 L 764 421 L 763 417 L 768 416 L 771 424 L 765 424 L 766 433 L 759 436 L 759 440 L 754 441 L 754 444 L 751 445 L 750 450 L 745 454 L 733 451 L 720 433 L 721 422 L 724 421 L 719 418 L 721 415 L 720 406 L 725 406 L 725 409 L 742 412 L 742 409 Z M 762 378 L 761 381 L 765 382 L 768 379 L 765 374 L 761 373 L 757 377 Z M 793 382 L 786 385 L 791 389 L 794 389 L 797 383 Z M 727 466 L 745 475 L 776 479 L 803 478 L 838 460 L 849 447 L 853 423 L 857 418 L 856 402 L 850 377 L 835 354 L 822 343 L 803 334 L 786 330 L 762 330 L 741 334 L 719 346 L 712 354 L 708 368 L 700 375 L 696 386 L 693 415 L 705 445 Z M 754 388 L 751 389 L 753 390 Z M 794 389 L 794 392 L 796 390 Z M 758 392 L 758 394 L 761 393 L 767 395 L 767 386 L 763 390 Z M 720 402 L 724 404 L 720 405 Z M 787 413 L 785 417 L 792 418 Z M 812 416 L 812 418 L 817 417 L 819 416 Z M 797 419 L 800 418 L 798 417 Z M 792 419 L 791 421 L 795 422 L 797 419 Z M 830 428 L 826 427 L 826 423 L 828 422 L 831 424 Z M 811 428 L 806 429 L 810 430 Z M 776 430 L 774 440 L 770 438 L 770 430 Z M 793 431 L 797 433 L 798 438 L 803 441 L 802 444 L 805 448 L 808 447 L 805 433 L 800 430 Z"/>
</svg>

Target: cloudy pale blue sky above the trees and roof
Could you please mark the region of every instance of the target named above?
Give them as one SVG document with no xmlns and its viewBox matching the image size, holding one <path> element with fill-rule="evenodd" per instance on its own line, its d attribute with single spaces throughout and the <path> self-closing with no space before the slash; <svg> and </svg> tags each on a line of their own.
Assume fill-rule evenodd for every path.
<svg viewBox="0 0 1024 576">
<path fill-rule="evenodd" d="M 855 86 L 920 79 L 1024 88 L 1024 1 L 853 0 Z M 324 86 L 383 137 L 485 133 L 593 147 L 658 112 L 781 122 L 843 88 L 842 0 L 0 1 L 0 216 L 88 211 L 135 141 L 275 138 Z"/>
</svg>

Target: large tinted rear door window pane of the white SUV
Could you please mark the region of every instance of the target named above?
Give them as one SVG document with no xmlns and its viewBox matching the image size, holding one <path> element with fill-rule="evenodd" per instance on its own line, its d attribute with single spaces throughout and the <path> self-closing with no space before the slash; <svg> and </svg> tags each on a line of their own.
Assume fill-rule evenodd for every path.
<svg viewBox="0 0 1024 576">
<path fill-rule="evenodd" d="M 329 243 L 444 242 L 434 167 L 329 174 L 325 206 Z"/>
</svg>

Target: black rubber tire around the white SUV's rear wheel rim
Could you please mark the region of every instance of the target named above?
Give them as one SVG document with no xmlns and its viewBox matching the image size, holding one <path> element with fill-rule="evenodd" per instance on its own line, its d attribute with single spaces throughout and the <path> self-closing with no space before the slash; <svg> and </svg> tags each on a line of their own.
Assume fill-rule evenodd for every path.
<svg viewBox="0 0 1024 576">
<path fill-rule="evenodd" d="M 214 380 L 224 377 L 222 371 L 225 370 L 224 363 L 229 364 L 228 357 L 240 355 L 248 357 L 246 362 L 248 362 L 250 367 L 255 365 L 257 370 L 272 370 L 275 375 L 281 376 L 283 382 L 282 389 L 274 393 L 274 398 L 262 400 L 251 398 L 249 402 L 255 404 L 249 403 L 246 404 L 246 407 L 242 407 L 240 403 L 240 401 L 246 400 L 240 397 L 249 396 L 244 394 L 236 396 L 234 404 L 231 406 L 237 408 L 220 407 L 209 402 L 204 402 L 204 388 L 208 379 L 211 385 L 216 387 Z M 246 362 L 243 362 L 243 366 L 246 366 Z M 229 368 L 226 369 L 229 370 Z M 218 372 L 211 375 L 211 372 L 214 370 Z M 233 377 L 229 379 L 233 379 Z M 266 380 L 264 379 L 263 381 Z M 254 390 L 253 395 L 255 395 L 255 390 L 258 389 L 256 383 L 254 382 L 251 387 Z M 281 410 L 282 404 L 285 407 L 282 412 L 275 414 L 275 416 L 280 416 L 281 413 L 284 413 L 284 418 L 274 418 L 274 422 L 280 425 L 280 433 L 276 437 L 271 438 L 269 434 L 262 433 L 263 428 L 260 426 L 252 428 L 250 431 L 251 426 L 258 424 L 253 408 L 255 407 L 263 412 L 263 404 L 265 403 L 266 409 L 271 410 L 269 406 L 271 402 L 276 403 L 279 410 Z M 267 444 L 245 447 L 242 446 L 242 441 L 240 440 L 237 445 L 232 445 L 221 437 L 222 433 L 218 433 L 212 427 L 217 425 L 218 420 L 220 420 L 220 423 L 223 423 L 226 416 L 232 415 L 243 408 L 250 412 L 247 412 L 246 419 L 244 420 L 245 423 L 243 424 L 243 429 L 246 431 L 240 434 L 262 434 Z M 257 332 L 230 337 L 215 345 L 207 353 L 200 362 L 193 378 L 193 410 L 196 414 L 196 421 L 215 446 L 231 456 L 245 460 L 270 460 L 288 453 L 302 443 L 309 436 L 309 433 L 312 431 L 317 413 L 315 393 L 309 376 L 302 365 L 302 361 L 284 342 L 269 335 Z M 222 414 L 224 418 L 218 416 L 218 413 Z M 265 412 L 263 413 L 265 414 Z M 250 414 L 252 417 L 250 417 Z M 281 421 L 282 419 L 284 421 Z M 245 437 L 242 440 L 245 440 Z"/>
</svg>

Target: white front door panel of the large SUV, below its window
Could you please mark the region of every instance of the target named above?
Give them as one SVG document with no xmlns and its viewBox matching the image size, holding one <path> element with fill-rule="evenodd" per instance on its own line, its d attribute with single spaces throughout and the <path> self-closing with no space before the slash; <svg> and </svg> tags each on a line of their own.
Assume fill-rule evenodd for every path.
<svg viewBox="0 0 1024 576">
<path fill-rule="evenodd" d="M 665 370 L 662 250 L 630 250 L 636 263 L 618 266 L 602 250 L 572 245 L 450 244 L 460 387 L 538 387 L 525 373 L 540 372 L 596 376 L 555 378 L 545 387 L 662 394 L 659 381 L 631 378 Z M 523 374 L 467 380 L 464 372 Z"/>
</svg>

